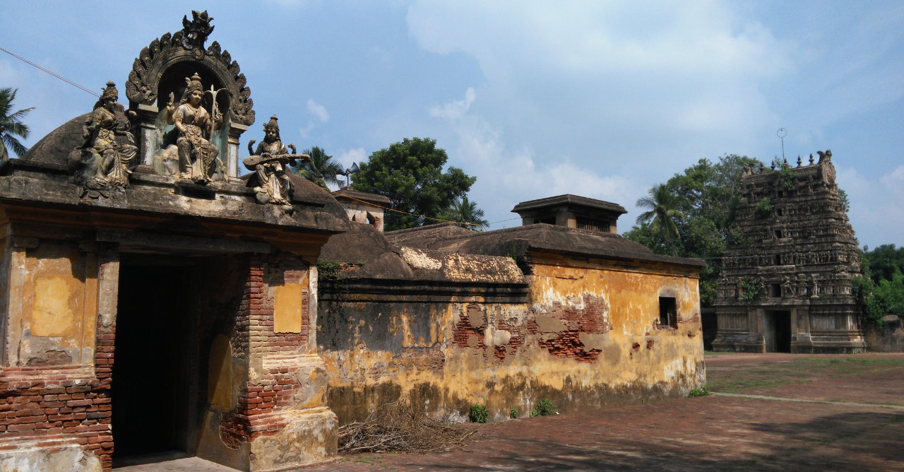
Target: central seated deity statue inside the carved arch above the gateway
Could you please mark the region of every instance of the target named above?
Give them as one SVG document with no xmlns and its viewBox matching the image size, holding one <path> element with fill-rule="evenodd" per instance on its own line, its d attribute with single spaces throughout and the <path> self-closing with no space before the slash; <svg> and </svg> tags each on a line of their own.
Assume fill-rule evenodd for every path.
<svg viewBox="0 0 904 472">
<path fill-rule="evenodd" d="M 176 147 L 179 150 L 180 177 L 195 184 L 207 184 L 211 182 L 212 170 L 217 163 L 217 155 L 220 154 L 220 149 L 209 138 L 213 130 L 221 126 L 222 117 L 217 110 L 216 100 L 212 100 L 212 113 L 201 106 L 205 93 L 201 76 L 195 73 L 186 81 L 188 88 L 185 90 L 185 97 L 178 106 L 174 106 L 173 95 L 170 94 L 166 109 L 170 122 L 179 130 Z"/>
</svg>

